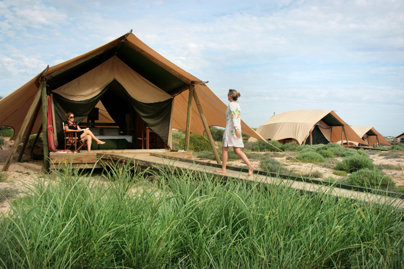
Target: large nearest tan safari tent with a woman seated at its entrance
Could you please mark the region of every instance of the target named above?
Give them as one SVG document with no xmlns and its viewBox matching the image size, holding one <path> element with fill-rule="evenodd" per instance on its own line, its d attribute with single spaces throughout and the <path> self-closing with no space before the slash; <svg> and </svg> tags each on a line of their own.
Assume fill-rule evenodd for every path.
<svg viewBox="0 0 404 269">
<path fill-rule="evenodd" d="M 14 128 L 15 144 L 23 136 L 39 134 L 41 126 L 46 126 L 43 129 L 48 132 L 53 129 L 59 149 L 64 146 L 62 122 L 69 111 L 75 114 L 76 122 L 85 122 L 87 126 L 118 126 L 121 135 L 133 137 L 128 145 L 133 149 L 139 146 L 136 141 L 146 126 L 156 134 L 157 147 L 162 148 L 172 148 L 173 128 L 186 131 L 186 150 L 190 132 L 201 136 L 207 132 L 220 163 L 209 126 L 225 127 L 226 105 L 206 83 L 129 32 L 76 58 L 47 67 L 0 100 L 0 125 Z M 46 96 L 51 97 L 51 124 L 47 123 Z M 244 122 L 242 129 L 246 135 L 262 139 Z M 47 144 L 47 136 L 43 137 Z M 6 164 L 15 152 L 13 149 Z M 44 147 L 45 166 L 46 156 Z"/>
</svg>

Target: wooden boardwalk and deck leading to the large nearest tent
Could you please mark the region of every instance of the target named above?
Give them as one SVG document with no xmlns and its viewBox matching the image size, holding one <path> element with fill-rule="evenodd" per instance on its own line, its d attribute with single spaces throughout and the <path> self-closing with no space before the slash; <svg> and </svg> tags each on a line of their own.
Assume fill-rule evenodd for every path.
<svg viewBox="0 0 404 269">
<path fill-rule="evenodd" d="M 103 161 L 128 162 L 133 159 L 137 164 L 144 167 L 171 167 L 176 169 L 192 169 L 195 171 L 213 174 L 216 165 L 205 162 L 196 162 L 192 159 L 182 158 L 187 153 L 171 153 L 169 150 L 124 150 L 124 151 L 94 151 L 92 153 L 51 153 L 51 163 L 58 164 L 69 162 L 74 167 L 92 168 L 97 159 Z M 178 157 L 179 156 L 179 157 Z M 98 164 L 98 167 L 101 167 Z M 243 171 L 240 171 L 243 170 Z M 215 173 L 217 174 L 217 173 Z M 224 177 L 240 178 L 241 180 L 256 181 L 266 184 L 283 184 L 284 186 L 297 189 L 300 191 L 311 193 L 325 193 L 336 197 L 344 197 L 348 199 L 360 200 L 365 202 L 374 202 L 377 204 L 388 204 L 404 211 L 404 197 L 389 197 L 386 195 L 374 194 L 369 192 L 359 192 L 337 188 L 334 186 L 326 186 L 321 184 L 313 184 L 310 182 L 302 182 L 274 177 L 266 173 L 255 171 L 251 176 L 247 176 L 246 169 L 239 167 L 228 167 L 226 175 L 219 174 Z"/>
</svg>

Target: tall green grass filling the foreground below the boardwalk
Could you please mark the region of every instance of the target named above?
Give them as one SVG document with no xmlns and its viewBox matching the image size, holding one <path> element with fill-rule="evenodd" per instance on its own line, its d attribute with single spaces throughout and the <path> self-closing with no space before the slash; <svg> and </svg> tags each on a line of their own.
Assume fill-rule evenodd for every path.
<svg viewBox="0 0 404 269">
<path fill-rule="evenodd" d="M 107 182 L 35 180 L 0 218 L 5 268 L 402 268 L 404 226 L 387 206 L 288 186 L 129 165 Z M 45 182 L 47 184 L 45 184 Z"/>
</svg>

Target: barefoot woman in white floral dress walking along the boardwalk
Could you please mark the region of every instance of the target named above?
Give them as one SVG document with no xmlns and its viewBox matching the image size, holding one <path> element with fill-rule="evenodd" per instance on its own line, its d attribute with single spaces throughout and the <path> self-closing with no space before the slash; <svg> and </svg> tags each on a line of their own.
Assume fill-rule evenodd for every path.
<svg viewBox="0 0 404 269">
<path fill-rule="evenodd" d="M 230 104 L 226 110 L 226 129 L 223 132 L 223 145 L 222 145 L 222 169 L 215 170 L 217 173 L 226 173 L 226 163 L 228 159 L 229 147 L 233 147 L 233 151 L 237 154 L 243 162 L 248 166 L 248 176 L 252 174 L 255 167 L 249 162 L 247 156 L 240 148 L 244 148 L 243 141 L 241 139 L 241 109 L 237 103 L 237 99 L 240 97 L 235 89 L 229 89 L 227 94 L 227 100 Z"/>
</svg>

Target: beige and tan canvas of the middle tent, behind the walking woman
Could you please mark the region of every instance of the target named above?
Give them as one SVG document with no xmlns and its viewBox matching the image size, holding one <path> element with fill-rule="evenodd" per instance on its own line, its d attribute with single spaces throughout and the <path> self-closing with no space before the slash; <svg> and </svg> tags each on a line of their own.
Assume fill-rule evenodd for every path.
<svg viewBox="0 0 404 269">
<path fill-rule="evenodd" d="M 342 135 L 343 140 L 346 141 L 345 134 L 343 133 L 341 126 L 332 126 L 331 129 L 324 129 L 330 127 L 322 121 L 322 119 L 328 114 L 331 114 L 331 116 L 333 116 L 339 123 L 341 123 L 341 125 L 344 126 L 348 141 L 367 144 L 332 110 L 295 110 L 276 114 L 258 127 L 257 132 L 267 140 L 270 139 L 272 141 L 279 141 L 291 138 L 301 145 L 309 137 L 310 132 L 315 127 L 315 124 L 319 124 L 321 127 L 323 127 L 320 128 L 323 135 L 331 143 L 341 141 Z M 248 141 L 255 140 L 249 139 Z"/>
</svg>

